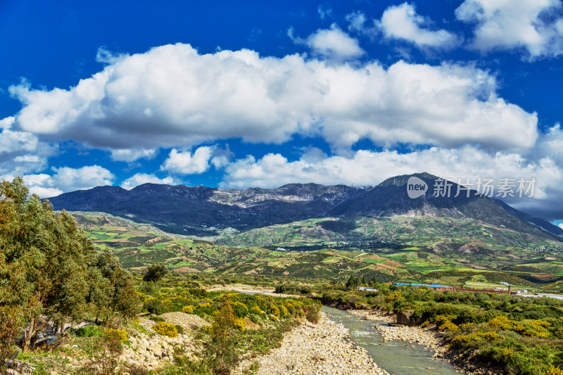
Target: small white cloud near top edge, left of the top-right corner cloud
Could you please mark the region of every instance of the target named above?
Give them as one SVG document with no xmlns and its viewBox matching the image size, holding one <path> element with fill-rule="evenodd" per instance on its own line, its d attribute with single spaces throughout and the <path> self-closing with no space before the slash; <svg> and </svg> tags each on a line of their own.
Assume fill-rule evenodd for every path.
<svg viewBox="0 0 563 375">
<path fill-rule="evenodd" d="M 351 18 L 351 27 L 360 28 L 363 24 L 360 15 Z M 429 30 L 432 22 L 417 14 L 413 4 L 403 3 L 386 8 L 377 26 L 386 38 L 403 39 L 418 47 L 449 49 L 460 43 L 452 32 L 446 30 Z"/>
</svg>

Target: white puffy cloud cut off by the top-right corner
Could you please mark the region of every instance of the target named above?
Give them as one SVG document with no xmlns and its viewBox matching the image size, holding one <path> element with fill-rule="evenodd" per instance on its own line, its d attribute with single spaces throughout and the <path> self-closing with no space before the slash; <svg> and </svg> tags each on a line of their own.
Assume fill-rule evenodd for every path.
<svg viewBox="0 0 563 375">
<path fill-rule="evenodd" d="M 563 53 L 562 11 L 559 0 L 465 0 L 455 15 L 475 24 L 474 49 L 525 49 L 538 58 Z"/>
</svg>

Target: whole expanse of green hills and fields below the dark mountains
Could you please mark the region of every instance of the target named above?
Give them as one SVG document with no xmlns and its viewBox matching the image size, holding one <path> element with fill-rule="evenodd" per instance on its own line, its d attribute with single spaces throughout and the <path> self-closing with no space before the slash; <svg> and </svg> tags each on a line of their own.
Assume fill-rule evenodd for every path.
<svg viewBox="0 0 563 375">
<path fill-rule="evenodd" d="M 222 243 L 213 243 L 105 213 L 72 215 L 97 249 L 109 248 L 130 269 L 165 262 L 177 272 L 288 279 L 356 274 L 468 288 L 494 288 L 500 281 L 531 288 L 563 279 L 563 258 L 552 250 L 557 242 L 526 239 L 529 235 L 474 220 L 315 219 L 222 235 L 217 238 Z"/>
</svg>

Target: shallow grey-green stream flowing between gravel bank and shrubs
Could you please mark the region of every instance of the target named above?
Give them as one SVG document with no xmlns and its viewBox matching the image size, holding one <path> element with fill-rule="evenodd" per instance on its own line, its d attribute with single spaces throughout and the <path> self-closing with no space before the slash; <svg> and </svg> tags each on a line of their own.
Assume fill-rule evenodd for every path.
<svg viewBox="0 0 563 375">
<path fill-rule="evenodd" d="M 342 323 L 349 331 L 350 338 L 365 348 L 374 362 L 393 375 L 453 375 L 459 374 L 448 362 L 434 360 L 434 352 L 417 343 L 404 341 L 381 342 L 379 332 L 373 325 L 386 325 L 377 320 L 364 320 L 346 311 L 323 306 L 322 311 L 334 322 Z M 414 345 L 414 348 L 412 348 Z"/>
</svg>

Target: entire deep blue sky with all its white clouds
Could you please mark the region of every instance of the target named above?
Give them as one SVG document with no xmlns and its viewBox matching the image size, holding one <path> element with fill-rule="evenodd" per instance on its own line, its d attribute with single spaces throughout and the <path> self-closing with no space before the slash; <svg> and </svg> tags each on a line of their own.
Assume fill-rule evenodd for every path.
<svg viewBox="0 0 563 375">
<path fill-rule="evenodd" d="M 563 220 L 563 5 L 516 3 L 1 1 L 0 177 L 534 178 L 507 201 Z"/>
</svg>

